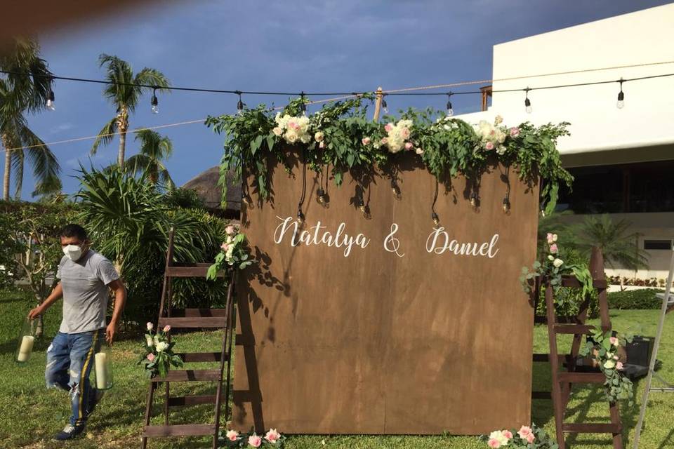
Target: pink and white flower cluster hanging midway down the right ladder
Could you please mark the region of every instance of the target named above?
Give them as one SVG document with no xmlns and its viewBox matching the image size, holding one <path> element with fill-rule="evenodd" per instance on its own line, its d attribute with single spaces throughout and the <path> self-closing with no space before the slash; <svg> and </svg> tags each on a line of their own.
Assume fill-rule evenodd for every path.
<svg viewBox="0 0 674 449">
<path fill-rule="evenodd" d="M 614 337 L 611 331 L 604 333 L 601 329 L 593 333 L 592 338 L 586 340 L 585 346 L 581 347 L 581 356 L 591 356 L 604 373 L 604 394 L 609 402 L 619 399 L 633 404 L 634 386 L 632 381 L 623 374 L 623 363 L 619 361 L 618 348 L 621 344 L 632 342 L 631 335 Z"/>
</svg>

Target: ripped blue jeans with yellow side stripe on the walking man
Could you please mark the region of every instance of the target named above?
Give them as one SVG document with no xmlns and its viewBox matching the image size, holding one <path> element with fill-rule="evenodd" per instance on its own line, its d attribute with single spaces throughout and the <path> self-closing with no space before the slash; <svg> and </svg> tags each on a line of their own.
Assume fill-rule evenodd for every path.
<svg viewBox="0 0 674 449">
<path fill-rule="evenodd" d="M 78 426 L 87 419 L 96 389 L 89 382 L 94 365 L 93 354 L 105 340 L 105 329 L 77 334 L 57 333 L 47 349 L 44 377 L 47 388 L 59 387 L 70 392 L 70 424 Z"/>
</svg>

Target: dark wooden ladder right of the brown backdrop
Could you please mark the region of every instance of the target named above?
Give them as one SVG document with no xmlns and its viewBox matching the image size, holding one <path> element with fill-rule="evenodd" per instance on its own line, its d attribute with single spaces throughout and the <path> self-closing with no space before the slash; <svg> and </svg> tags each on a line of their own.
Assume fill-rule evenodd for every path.
<svg viewBox="0 0 674 449">
<path fill-rule="evenodd" d="M 592 249 L 590 256 L 590 273 L 593 278 L 593 286 L 599 297 L 599 311 L 601 327 L 604 332 L 611 330 L 609 318 L 609 306 L 606 297 L 607 281 L 604 275 L 604 257 L 598 248 Z M 573 276 L 564 276 L 562 286 L 581 288 L 579 281 Z M 534 323 L 546 323 L 548 325 L 548 340 L 550 342 L 550 354 L 534 354 L 534 362 L 550 362 L 552 371 L 552 391 L 532 391 L 534 399 L 552 398 L 555 414 L 555 431 L 557 444 L 560 449 L 565 449 L 564 434 L 612 434 L 613 448 L 623 449 L 622 424 L 617 403 L 609 403 L 609 423 L 568 423 L 564 422 L 564 414 L 571 398 L 573 384 L 594 383 L 603 384 L 606 380 L 604 373 L 579 373 L 576 372 L 576 359 L 581 349 L 584 335 L 590 335 L 595 326 L 586 324 L 588 309 L 590 308 L 589 295 L 583 300 L 576 316 L 556 316 L 555 297 L 553 287 L 546 279 L 536 279 L 532 299 L 534 310 L 538 305 L 540 289 L 545 288 L 547 313 L 543 316 L 535 316 Z M 569 354 L 559 354 L 557 351 L 557 335 L 573 335 L 571 351 Z M 566 368 L 566 370 L 560 370 Z"/>
</svg>

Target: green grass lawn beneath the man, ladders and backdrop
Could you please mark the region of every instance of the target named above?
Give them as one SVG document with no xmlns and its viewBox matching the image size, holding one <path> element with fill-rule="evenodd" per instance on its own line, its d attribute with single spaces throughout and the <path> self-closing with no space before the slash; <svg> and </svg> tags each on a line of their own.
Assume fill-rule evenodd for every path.
<svg viewBox="0 0 674 449">
<path fill-rule="evenodd" d="M 88 422 L 86 434 L 76 441 L 62 444 L 51 441 L 51 436 L 60 430 L 70 415 L 67 394 L 60 390 L 46 390 L 44 387 L 45 351 L 51 337 L 58 329 L 60 307 L 54 307 L 46 316 L 46 337 L 36 344 L 36 351 L 25 366 L 13 362 L 20 323 L 29 309 L 29 302 L 20 293 L 0 292 L 0 393 L 4 400 L 0 410 L 0 448 L 138 448 L 145 410 L 147 381 L 140 367 L 136 366 L 138 340 L 121 340 L 114 344 L 114 382 L 110 390 Z M 642 335 L 655 335 L 659 311 L 619 310 L 612 311 L 612 321 L 616 330 L 632 330 Z M 663 361 L 661 374 L 674 381 L 674 317 L 668 317 L 663 345 L 659 358 Z M 219 332 L 190 333 L 180 335 L 180 349 L 217 350 L 222 334 Z M 562 338 L 560 350 L 568 350 L 570 338 Z M 544 327 L 534 330 L 534 351 L 548 351 L 548 335 Z M 203 363 L 200 364 L 204 366 Z M 547 363 L 534 364 L 534 389 L 548 390 L 550 370 Z M 639 413 L 639 403 L 644 389 L 643 380 L 637 383 L 636 404 L 628 408 L 622 404 L 621 415 L 625 447 L 630 448 L 634 427 Z M 172 384 L 174 393 L 190 391 L 207 393 L 214 391 L 212 385 L 203 387 L 194 384 Z M 159 389 L 163 392 L 163 387 Z M 163 393 L 162 393 L 163 394 Z M 159 395 L 161 399 L 161 394 Z M 154 409 L 155 422 L 161 423 L 161 401 Z M 608 407 L 604 402 L 600 387 L 578 387 L 574 389 L 571 413 L 567 422 L 574 420 L 607 422 Z M 212 406 L 198 406 L 176 410 L 171 422 L 209 422 L 212 420 Z M 550 401 L 534 401 L 532 417 L 543 425 L 548 433 L 554 433 L 552 404 Z M 649 401 L 647 422 L 642 433 L 642 449 L 664 449 L 674 447 L 674 395 L 655 393 Z M 283 429 L 279 429 L 283 431 Z M 323 444 L 324 443 L 324 444 Z M 606 435 L 583 434 L 569 436 L 571 448 L 604 449 L 612 447 Z M 183 438 L 152 439 L 150 448 L 197 448 L 210 447 L 206 439 Z M 286 447 L 295 448 L 486 448 L 474 436 L 291 436 Z"/>
</svg>

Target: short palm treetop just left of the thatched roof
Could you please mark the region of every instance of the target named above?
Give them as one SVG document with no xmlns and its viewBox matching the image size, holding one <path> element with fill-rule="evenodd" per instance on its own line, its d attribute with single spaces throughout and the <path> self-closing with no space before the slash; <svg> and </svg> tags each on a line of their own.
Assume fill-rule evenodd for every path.
<svg viewBox="0 0 674 449">
<path fill-rule="evenodd" d="M 124 170 L 126 173 L 147 173 L 147 179 L 152 185 L 161 185 L 169 190 L 176 187 L 169 175 L 169 170 L 162 160 L 169 159 L 173 154 L 173 142 L 162 136 L 157 131 L 143 129 L 136 131 L 135 140 L 140 140 L 140 153 L 131 156 L 126 161 Z"/>
</svg>

